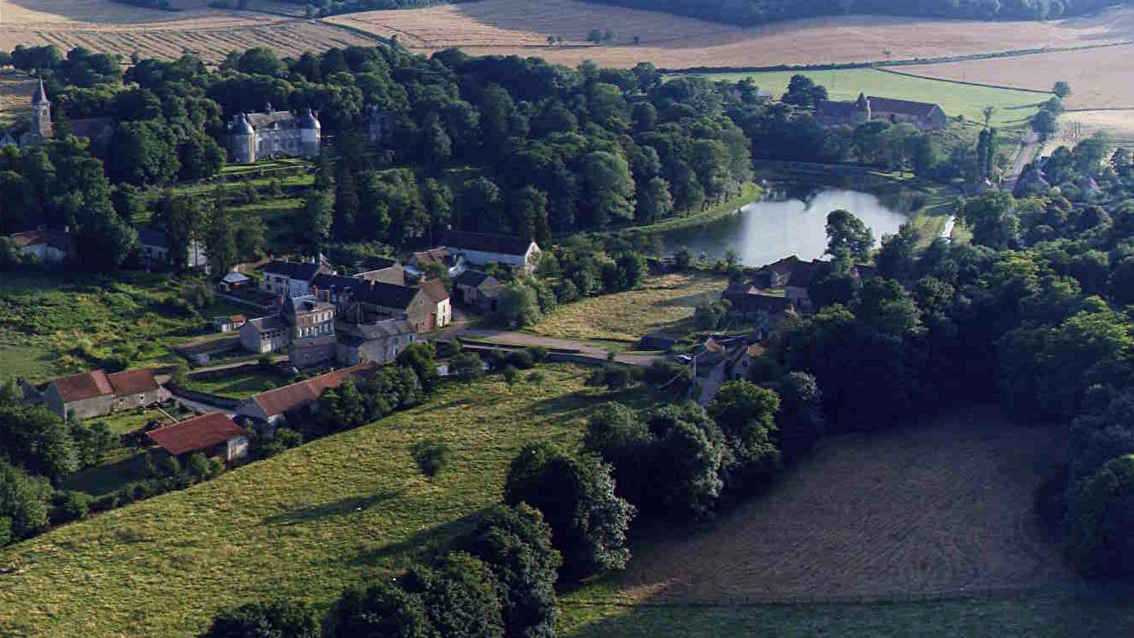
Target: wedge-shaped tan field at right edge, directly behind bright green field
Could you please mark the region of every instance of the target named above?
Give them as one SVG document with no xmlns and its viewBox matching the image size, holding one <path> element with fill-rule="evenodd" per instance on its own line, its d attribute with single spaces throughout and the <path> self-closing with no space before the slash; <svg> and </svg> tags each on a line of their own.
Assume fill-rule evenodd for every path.
<svg viewBox="0 0 1134 638">
<path fill-rule="evenodd" d="M 1064 101 L 1069 109 L 1134 108 L 1134 44 L 919 65 L 902 70 L 924 77 L 1039 90 L 1050 90 L 1057 79 L 1064 79 L 1073 91 Z"/>
</svg>

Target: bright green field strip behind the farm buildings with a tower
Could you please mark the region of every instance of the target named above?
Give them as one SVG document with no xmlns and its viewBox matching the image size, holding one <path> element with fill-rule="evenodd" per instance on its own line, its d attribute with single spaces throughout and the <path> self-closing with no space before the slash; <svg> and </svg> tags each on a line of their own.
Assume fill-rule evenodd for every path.
<svg viewBox="0 0 1134 638">
<path fill-rule="evenodd" d="M 915 70 L 921 67 L 908 67 Z M 752 78 L 761 89 L 768 89 L 778 99 L 787 91 L 787 83 L 796 73 L 802 73 L 827 87 L 832 100 L 854 100 L 858 93 L 886 98 L 900 98 L 922 102 L 937 102 L 949 117 L 965 116 L 971 121 L 983 121 L 981 109 L 996 108 L 992 116 L 995 126 L 1017 126 L 1035 112 L 1038 104 L 1050 95 L 1029 91 L 1009 91 L 984 86 L 966 86 L 953 82 L 941 82 L 920 77 L 908 77 L 878 69 L 840 69 L 768 73 L 721 73 L 708 74 L 714 79 L 738 82 Z"/>
</svg>

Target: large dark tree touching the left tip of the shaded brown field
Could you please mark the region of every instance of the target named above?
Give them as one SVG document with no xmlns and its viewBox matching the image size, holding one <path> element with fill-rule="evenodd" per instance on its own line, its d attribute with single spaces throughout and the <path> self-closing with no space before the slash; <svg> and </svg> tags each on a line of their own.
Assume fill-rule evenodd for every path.
<svg viewBox="0 0 1134 638">
<path fill-rule="evenodd" d="M 543 512 L 568 580 L 621 569 L 629 560 L 626 529 L 634 506 L 615 495 L 610 467 L 593 456 L 572 459 L 548 443 L 525 445 L 508 468 L 503 498 Z"/>
</svg>

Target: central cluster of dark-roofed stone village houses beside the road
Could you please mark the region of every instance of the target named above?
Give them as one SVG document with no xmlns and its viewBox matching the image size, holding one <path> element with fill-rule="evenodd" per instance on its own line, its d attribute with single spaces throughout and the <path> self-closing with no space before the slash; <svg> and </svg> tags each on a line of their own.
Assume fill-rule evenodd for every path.
<svg viewBox="0 0 1134 638">
<path fill-rule="evenodd" d="M 431 278 L 438 268 L 451 277 L 458 301 L 493 311 L 503 285 L 477 268 L 500 263 L 531 274 L 540 257 L 531 240 L 450 232 L 441 245 L 411 254 L 405 266 L 375 259 L 372 268 L 350 276 L 320 258 L 272 261 L 261 270 L 260 289 L 277 299 L 273 311 L 239 326 L 243 317 L 218 321 L 222 330 L 239 330 L 248 352 L 287 351 L 295 366 L 386 363 L 420 335 L 452 322 L 450 293 Z"/>
</svg>

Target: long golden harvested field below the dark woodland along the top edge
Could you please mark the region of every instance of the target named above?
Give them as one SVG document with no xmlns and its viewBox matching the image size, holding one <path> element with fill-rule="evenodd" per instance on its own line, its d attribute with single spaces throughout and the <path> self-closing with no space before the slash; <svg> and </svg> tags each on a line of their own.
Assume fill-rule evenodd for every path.
<svg viewBox="0 0 1134 638">
<path fill-rule="evenodd" d="M 631 67 L 765 66 L 988 53 L 1095 45 L 1134 39 L 1134 9 L 1051 22 L 989 23 L 881 16 L 824 17 L 742 28 L 669 14 L 574 0 L 480 0 L 407 10 L 344 14 L 328 22 L 397 35 L 411 50 L 460 47 L 471 54 L 516 53 L 577 65 Z M 613 28 L 611 45 L 585 42 Z M 948 28 L 945 28 L 948 27 Z M 548 47 L 548 35 L 564 44 Z M 634 36 L 641 44 L 634 45 Z"/>
</svg>

